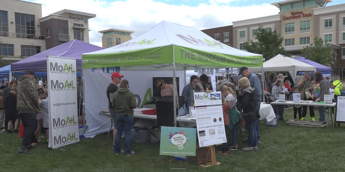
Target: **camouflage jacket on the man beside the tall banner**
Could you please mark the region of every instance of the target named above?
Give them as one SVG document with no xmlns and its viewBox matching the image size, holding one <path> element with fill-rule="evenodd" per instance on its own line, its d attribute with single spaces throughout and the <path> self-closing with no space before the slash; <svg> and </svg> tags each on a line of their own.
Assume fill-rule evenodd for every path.
<svg viewBox="0 0 345 172">
<path fill-rule="evenodd" d="M 37 88 L 33 80 L 22 76 L 17 85 L 17 110 L 39 112 Z"/>
</svg>

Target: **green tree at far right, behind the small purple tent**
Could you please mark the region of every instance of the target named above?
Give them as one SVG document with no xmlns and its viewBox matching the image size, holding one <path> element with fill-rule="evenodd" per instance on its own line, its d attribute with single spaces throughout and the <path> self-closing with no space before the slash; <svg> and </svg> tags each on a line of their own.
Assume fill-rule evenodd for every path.
<svg viewBox="0 0 345 172">
<path fill-rule="evenodd" d="M 321 37 L 314 37 L 314 44 L 311 43 L 309 46 L 303 48 L 302 53 L 309 60 L 316 63 L 323 64 L 325 66 L 331 66 L 335 62 L 336 56 L 333 48 L 329 46 L 329 43 L 324 42 Z"/>
</svg>

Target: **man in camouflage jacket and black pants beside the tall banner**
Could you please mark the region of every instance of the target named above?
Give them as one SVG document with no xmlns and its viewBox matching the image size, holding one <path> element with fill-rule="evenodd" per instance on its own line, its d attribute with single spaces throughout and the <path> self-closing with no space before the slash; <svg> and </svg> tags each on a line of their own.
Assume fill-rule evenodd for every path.
<svg viewBox="0 0 345 172">
<path fill-rule="evenodd" d="M 40 105 L 34 77 L 33 71 L 26 71 L 17 85 L 17 110 L 24 126 L 23 142 L 19 153 L 31 153 L 30 150 L 34 149 L 31 143 L 37 142 L 34 130 Z"/>
</svg>

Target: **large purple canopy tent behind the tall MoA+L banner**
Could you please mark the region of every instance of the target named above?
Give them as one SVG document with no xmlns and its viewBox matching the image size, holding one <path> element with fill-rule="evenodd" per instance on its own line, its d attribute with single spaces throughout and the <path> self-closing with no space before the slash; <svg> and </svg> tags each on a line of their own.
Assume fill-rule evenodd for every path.
<svg viewBox="0 0 345 172">
<path fill-rule="evenodd" d="M 11 64 L 11 72 L 27 70 L 47 70 L 47 55 L 57 57 L 75 58 L 77 68 L 81 68 L 81 54 L 102 50 L 104 48 L 89 44 L 87 42 L 72 40 L 64 44 L 52 47 L 46 51 L 30 56 L 24 60 Z"/>
</svg>

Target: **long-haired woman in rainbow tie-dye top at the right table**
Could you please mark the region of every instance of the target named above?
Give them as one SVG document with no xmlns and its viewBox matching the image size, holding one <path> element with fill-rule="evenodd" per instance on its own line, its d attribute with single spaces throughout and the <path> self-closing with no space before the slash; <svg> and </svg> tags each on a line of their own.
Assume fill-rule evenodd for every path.
<svg viewBox="0 0 345 172">
<path fill-rule="evenodd" d="M 324 101 L 324 95 L 329 93 L 329 83 L 322 76 L 321 72 L 316 72 L 315 84 L 313 85 L 313 95 L 312 98 L 314 101 Z M 316 107 L 319 111 L 319 121 L 326 122 L 326 109 L 324 106 Z"/>
</svg>

